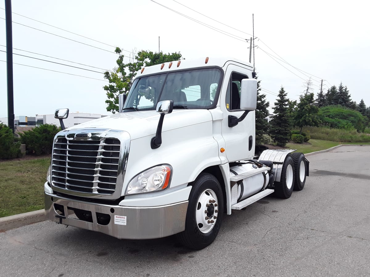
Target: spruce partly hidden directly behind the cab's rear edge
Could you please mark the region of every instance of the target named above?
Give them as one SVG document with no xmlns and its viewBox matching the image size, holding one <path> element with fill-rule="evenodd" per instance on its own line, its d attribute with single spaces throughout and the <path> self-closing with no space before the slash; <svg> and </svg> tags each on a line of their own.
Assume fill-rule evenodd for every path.
<svg viewBox="0 0 370 277">
<path fill-rule="evenodd" d="M 256 76 L 257 79 L 257 76 Z M 260 93 L 260 82 L 257 82 L 257 107 L 256 107 L 256 144 L 263 143 L 263 135 L 268 134 L 270 123 L 266 119 L 269 115 L 270 102 L 266 100 L 266 94 Z"/>
</svg>

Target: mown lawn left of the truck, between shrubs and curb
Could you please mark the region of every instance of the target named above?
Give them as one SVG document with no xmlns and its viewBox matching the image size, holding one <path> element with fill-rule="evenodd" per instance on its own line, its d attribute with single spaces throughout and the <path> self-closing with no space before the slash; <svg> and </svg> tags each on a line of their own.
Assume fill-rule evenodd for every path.
<svg viewBox="0 0 370 277">
<path fill-rule="evenodd" d="M 44 208 L 49 158 L 0 162 L 0 217 Z"/>
</svg>

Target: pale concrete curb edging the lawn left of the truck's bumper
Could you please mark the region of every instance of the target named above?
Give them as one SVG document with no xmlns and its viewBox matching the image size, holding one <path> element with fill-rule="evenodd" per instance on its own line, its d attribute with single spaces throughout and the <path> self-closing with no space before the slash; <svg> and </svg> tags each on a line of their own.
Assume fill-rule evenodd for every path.
<svg viewBox="0 0 370 277">
<path fill-rule="evenodd" d="M 5 232 L 10 229 L 22 227 L 31 223 L 36 223 L 45 220 L 45 210 L 38 210 L 19 215 L 6 216 L 0 218 L 0 232 Z"/>
</svg>

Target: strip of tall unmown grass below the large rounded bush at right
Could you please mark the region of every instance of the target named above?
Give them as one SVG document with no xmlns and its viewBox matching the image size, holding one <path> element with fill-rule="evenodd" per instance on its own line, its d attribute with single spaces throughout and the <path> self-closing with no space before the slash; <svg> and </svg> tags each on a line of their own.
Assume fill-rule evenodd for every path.
<svg viewBox="0 0 370 277">
<path fill-rule="evenodd" d="M 340 143 L 370 142 L 368 134 L 358 133 L 356 130 L 306 126 L 303 127 L 303 131 L 315 140 L 337 141 Z"/>
</svg>

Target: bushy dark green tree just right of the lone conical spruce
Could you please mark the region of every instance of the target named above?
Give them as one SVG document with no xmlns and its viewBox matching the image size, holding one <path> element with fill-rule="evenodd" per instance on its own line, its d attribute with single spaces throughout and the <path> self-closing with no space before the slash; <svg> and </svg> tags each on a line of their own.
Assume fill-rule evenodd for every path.
<svg viewBox="0 0 370 277">
<path fill-rule="evenodd" d="M 300 134 L 302 134 L 303 126 L 318 126 L 321 123 L 319 107 L 314 105 L 313 93 L 306 93 L 299 96 L 295 121 L 296 125 L 300 127 Z"/>
</svg>

